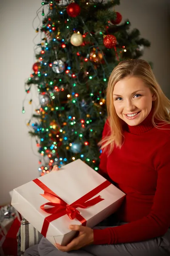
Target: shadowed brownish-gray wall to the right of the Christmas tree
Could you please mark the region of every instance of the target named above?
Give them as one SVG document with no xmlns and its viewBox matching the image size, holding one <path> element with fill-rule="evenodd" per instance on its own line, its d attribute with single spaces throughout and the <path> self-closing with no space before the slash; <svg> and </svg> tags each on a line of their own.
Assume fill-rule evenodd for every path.
<svg viewBox="0 0 170 256">
<path fill-rule="evenodd" d="M 153 72 L 170 99 L 170 0 L 120 0 L 116 8 L 132 28 L 151 43 L 143 59 L 153 62 Z"/>
</svg>

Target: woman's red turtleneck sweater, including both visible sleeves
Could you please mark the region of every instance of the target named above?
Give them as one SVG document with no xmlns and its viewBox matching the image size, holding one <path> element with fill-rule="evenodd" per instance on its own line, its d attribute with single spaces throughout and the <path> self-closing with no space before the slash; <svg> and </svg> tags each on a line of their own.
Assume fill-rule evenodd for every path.
<svg viewBox="0 0 170 256">
<path fill-rule="evenodd" d="M 94 230 L 94 244 L 153 239 L 170 227 L 170 125 L 155 128 L 151 117 L 125 128 L 122 148 L 101 154 L 99 173 L 126 194 L 117 215 L 128 223 Z M 109 130 L 106 122 L 103 137 Z"/>
</svg>

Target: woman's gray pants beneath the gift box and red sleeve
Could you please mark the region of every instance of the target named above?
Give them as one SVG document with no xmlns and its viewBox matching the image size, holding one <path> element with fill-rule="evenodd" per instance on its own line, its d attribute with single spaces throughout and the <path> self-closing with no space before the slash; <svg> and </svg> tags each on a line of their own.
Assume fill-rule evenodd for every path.
<svg viewBox="0 0 170 256">
<path fill-rule="evenodd" d="M 119 223 L 122 225 L 125 223 Z M 94 227 L 104 229 L 106 227 Z M 129 234 L 130 236 L 130 234 Z M 170 229 L 164 236 L 142 242 L 88 245 L 80 250 L 59 251 L 44 237 L 40 244 L 28 248 L 24 256 L 170 256 Z"/>
</svg>

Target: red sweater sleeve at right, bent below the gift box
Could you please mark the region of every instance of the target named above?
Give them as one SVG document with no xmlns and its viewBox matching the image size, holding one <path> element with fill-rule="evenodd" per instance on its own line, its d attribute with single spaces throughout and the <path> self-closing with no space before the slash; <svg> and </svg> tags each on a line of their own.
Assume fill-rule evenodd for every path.
<svg viewBox="0 0 170 256">
<path fill-rule="evenodd" d="M 170 227 L 170 141 L 156 157 L 157 186 L 150 213 L 122 226 L 94 229 L 94 244 L 130 243 L 163 236 Z"/>
</svg>

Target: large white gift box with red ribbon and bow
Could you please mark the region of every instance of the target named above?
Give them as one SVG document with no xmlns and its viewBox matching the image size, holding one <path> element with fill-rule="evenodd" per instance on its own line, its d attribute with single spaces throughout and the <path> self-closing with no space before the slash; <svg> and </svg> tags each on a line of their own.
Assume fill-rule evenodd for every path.
<svg viewBox="0 0 170 256">
<path fill-rule="evenodd" d="M 116 212 L 124 197 L 78 159 L 14 189 L 11 204 L 52 244 L 66 245 L 76 234 L 69 225 L 94 227 Z"/>
</svg>

